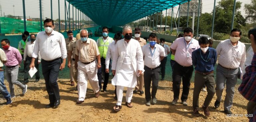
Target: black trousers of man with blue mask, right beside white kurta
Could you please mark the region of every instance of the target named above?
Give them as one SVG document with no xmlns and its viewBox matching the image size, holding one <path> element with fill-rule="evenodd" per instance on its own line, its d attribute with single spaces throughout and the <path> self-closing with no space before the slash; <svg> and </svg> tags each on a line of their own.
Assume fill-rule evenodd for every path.
<svg viewBox="0 0 256 122">
<path fill-rule="evenodd" d="M 151 98 L 156 97 L 158 81 L 160 75 L 160 68 L 151 70 L 147 66 L 144 66 L 144 85 L 145 85 L 145 98 L 147 101 L 151 100 Z M 152 80 L 152 91 L 150 93 L 150 85 Z"/>
</svg>

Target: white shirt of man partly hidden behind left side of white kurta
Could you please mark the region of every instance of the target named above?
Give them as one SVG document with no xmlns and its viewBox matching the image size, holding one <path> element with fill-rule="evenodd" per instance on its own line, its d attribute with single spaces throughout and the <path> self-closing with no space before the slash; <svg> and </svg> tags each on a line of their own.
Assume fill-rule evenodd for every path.
<svg viewBox="0 0 256 122">
<path fill-rule="evenodd" d="M 108 45 L 108 51 L 107 51 L 107 56 L 106 56 L 106 61 L 105 61 L 105 64 L 106 64 L 106 69 L 108 69 L 109 67 L 109 62 L 110 62 L 110 59 L 113 59 L 114 58 L 114 52 L 117 52 L 117 48 L 116 48 L 116 43 L 115 41 L 114 42 L 111 42 L 109 45 Z"/>
</svg>

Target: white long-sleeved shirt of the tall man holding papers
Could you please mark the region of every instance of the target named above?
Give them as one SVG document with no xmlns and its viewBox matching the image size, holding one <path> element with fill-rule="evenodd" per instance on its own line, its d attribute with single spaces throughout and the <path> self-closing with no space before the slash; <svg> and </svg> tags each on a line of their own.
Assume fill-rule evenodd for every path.
<svg viewBox="0 0 256 122">
<path fill-rule="evenodd" d="M 41 58 L 45 61 L 52 61 L 54 59 L 67 57 L 66 43 L 64 36 L 53 31 L 50 36 L 45 31 L 41 31 L 37 34 L 34 51 L 32 53 L 33 58 L 37 58 L 39 51 Z"/>
</svg>

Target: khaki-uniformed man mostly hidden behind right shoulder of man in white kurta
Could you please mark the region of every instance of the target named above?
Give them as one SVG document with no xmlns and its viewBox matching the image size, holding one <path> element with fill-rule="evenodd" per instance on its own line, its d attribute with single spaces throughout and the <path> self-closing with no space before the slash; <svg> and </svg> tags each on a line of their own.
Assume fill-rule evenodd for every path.
<svg viewBox="0 0 256 122">
<path fill-rule="evenodd" d="M 147 44 L 147 42 L 143 38 L 140 38 L 140 35 L 141 35 L 141 29 L 135 28 L 135 35 L 134 35 L 135 40 L 139 41 L 140 47 L 143 47 L 144 45 Z M 143 85 L 144 85 L 144 73 L 142 73 L 142 75 L 137 77 L 137 85 L 135 86 L 135 90 L 133 91 L 133 93 L 140 92 L 140 94 L 144 94 Z"/>
</svg>

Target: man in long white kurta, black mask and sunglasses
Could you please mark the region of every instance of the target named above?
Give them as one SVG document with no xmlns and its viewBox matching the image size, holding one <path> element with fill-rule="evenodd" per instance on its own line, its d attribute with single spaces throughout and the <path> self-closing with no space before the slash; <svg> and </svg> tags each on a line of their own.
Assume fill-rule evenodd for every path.
<svg viewBox="0 0 256 122">
<path fill-rule="evenodd" d="M 130 26 L 123 28 L 124 39 L 116 43 L 117 52 L 114 53 L 112 61 L 112 72 L 115 75 L 111 80 L 112 85 L 116 85 L 117 103 L 114 109 L 121 108 L 123 89 L 126 91 L 126 106 L 132 107 L 131 99 L 133 88 L 137 84 L 136 75 L 139 76 L 144 71 L 143 54 L 138 41 L 132 39 L 132 29 Z"/>
</svg>

